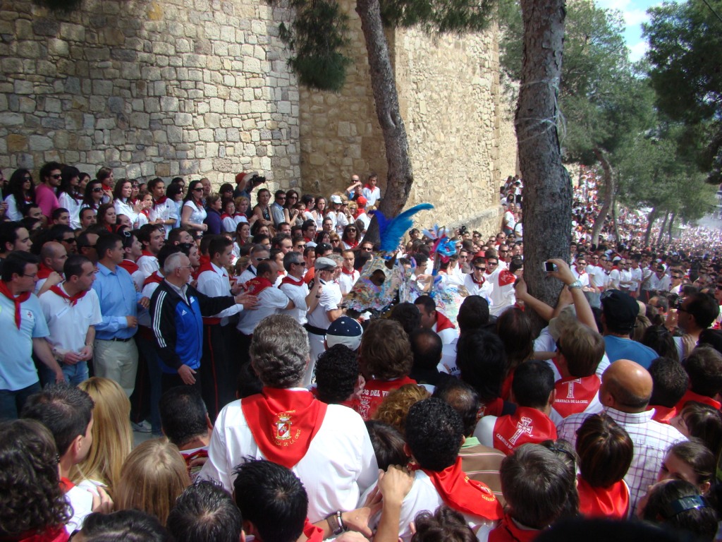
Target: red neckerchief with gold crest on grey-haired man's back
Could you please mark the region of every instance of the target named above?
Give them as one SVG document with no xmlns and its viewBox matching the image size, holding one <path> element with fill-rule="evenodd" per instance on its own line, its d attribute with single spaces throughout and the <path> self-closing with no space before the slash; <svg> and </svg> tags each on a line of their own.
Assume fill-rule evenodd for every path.
<svg viewBox="0 0 722 542">
<path fill-rule="evenodd" d="M 264 387 L 240 401 L 258 449 L 267 460 L 293 468 L 321 429 L 327 405 L 307 391 Z"/>
</svg>

